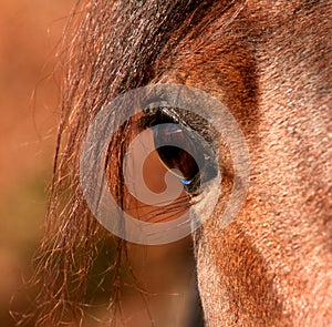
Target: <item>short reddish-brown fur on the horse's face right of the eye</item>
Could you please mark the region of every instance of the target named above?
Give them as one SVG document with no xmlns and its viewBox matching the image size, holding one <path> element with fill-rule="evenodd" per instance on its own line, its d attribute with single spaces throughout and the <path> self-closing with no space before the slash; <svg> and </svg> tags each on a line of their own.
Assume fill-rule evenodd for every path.
<svg viewBox="0 0 332 327">
<path fill-rule="evenodd" d="M 238 18 L 240 28 L 253 34 L 251 42 L 247 38 L 253 54 L 250 45 L 246 49 L 257 68 L 256 112 L 248 101 L 234 105 L 227 81 L 220 85 L 211 79 L 212 85 L 207 85 L 199 83 L 199 72 L 194 78 L 196 85 L 221 93 L 234 110 L 249 143 L 252 168 L 237 222 L 220 231 L 217 212 L 198 242 L 198 280 L 208 326 L 332 323 L 331 6 L 278 4 L 249 2 L 243 20 Z M 235 21 L 229 27 L 232 33 L 236 25 Z M 261 34 L 263 29 L 269 32 Z M 240 50 L 231 55 L 240 57 Z M 219 60 L 218 70 L 224 57 Z M 201 72 L 208 70 L 207 60 L 195 64 L 195 72 L 200 64 Z M 226 63 L 224 70 L 228 76 L 232 68 Z M 237 91 L 246 93 L 248 84 L 243 90 L 239 85 Z"/>
</svg>

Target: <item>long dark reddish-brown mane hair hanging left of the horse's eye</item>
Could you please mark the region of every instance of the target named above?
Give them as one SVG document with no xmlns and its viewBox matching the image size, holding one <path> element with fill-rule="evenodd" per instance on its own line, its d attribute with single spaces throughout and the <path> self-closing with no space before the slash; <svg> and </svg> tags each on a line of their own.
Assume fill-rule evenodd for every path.
<svg viewBox="0 0 332 327">
<path fill-rule="evenodd" d="M 184 40 L 204 42 L 204 30 L 216 12 L 222 10 L 227 18 L 229 11 L 232 19 L 243 2 L 77 1 L 59 52 L 61 121 L 44 237 L 30 282 L 37 296 L 19 326 L 31 319 L 38 326 L 60 326 L 71 319 L 76 326 L 83 324 L 93 274 L 101 274 L 97 286 L 115 307 L 125 243 L 100 227 L 82 196 L 80 149 L 87 126 L 116 95 L 158 81 L 170 67 L 180 72 L 180 63 L 173 59 L 186 45 Z"/>
</svg>

